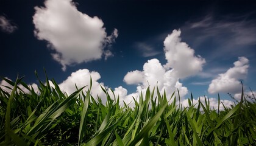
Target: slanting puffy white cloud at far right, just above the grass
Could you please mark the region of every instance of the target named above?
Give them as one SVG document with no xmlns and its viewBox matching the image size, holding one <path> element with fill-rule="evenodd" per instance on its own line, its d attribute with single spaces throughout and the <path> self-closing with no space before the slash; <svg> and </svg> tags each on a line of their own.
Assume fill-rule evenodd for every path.
<svg viewBox="0 0 256 146">
<path fill-rule="evenodd" d="M 212 80 L 208 92 L 210 94 L 217 92 L 237 93 L 241 91 L 240 80 L 246 78 L 249 60 L 246 57 L 238 57 L 233 68 L 228 69 L 225 73 Z"/>
</svg>

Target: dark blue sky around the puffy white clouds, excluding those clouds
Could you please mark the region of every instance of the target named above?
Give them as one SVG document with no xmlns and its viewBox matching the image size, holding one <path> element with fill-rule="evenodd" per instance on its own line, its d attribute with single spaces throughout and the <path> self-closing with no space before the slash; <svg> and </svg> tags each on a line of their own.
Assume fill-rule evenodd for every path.
<svg viewBox="0 0 256 146">
<path fill-rule="evenodd" d="M 229 98 L 226 90 L 217 89 L 217 85 L 215 86 L 216 89 L 212 91 L 213 94 L 209 94 L 209 85 L 213 83 L 214 79 L 221 78 L 218 74 L 225 74 L 229 68 L 233 68 L 235 61 L 243 62 L 244 64 L 242 64 L 248 65 L 249 68 L 244 67 L 245 72 L 236 71 L 235 73 L 225 74 L 227 77 L 224 76 L 227 80 L 232 80 L 232 82 L 242 79 L 247 87 L 250 86 L 255 89 L 255 1 L 74 0 L 73 2 L 76 4 L 75 9 L 77 12 L 84 13 L 91 18 L 97 16 L 104 23 L 103 27 L 105 28 L 105 33 L 107 33 L 105 37 L 112 35 L 114 29 L 118 30 L 118 37 L 113 36 L 112 43 L 105 43 L 105 46 L 103 45 L 100 48 L 103 51 L 109 50 L 112 52 L 112 56 L 105 60 L 104 54 L 102 54 L 101 58 L 82 61 L 82 63 L 77 63 L 76 61 L 71 64 L 66 63 L 66 71 L 63 71 L 60 61 L 54 60 L 51 55 L 56 54 L 56 52 L 60 54 L 60 51 L 58 53 L 57 47 L 54 45 L 49 47 L 49 44 L 55 42 L 51 40 L 52 36 L 50 36 L 56 34 L 50 32 L 54 31 L 54 29 L 47 30 L 47 34 L 50 33 L 48 36 L 41 35 L 41 40 L 39 39 L 40 34 L 37 33 L 35 35 L 34 33 L 36 30 L 35 25 L 38 25 L 38 32 L 43 32 L 45 30 L 44 26 L 54 21 L 54 19 L 50 18 L 48 20 L 51 20 L 51 22 L 37 20 L 39 16 L 43 15 L 38 15 L 38 18 L 34 17 L 35 13 L 39 13 L 39 11 L 35 10 L 35 7 L 41 10 L 46 7 L 44 1 L 1 0 L 1 77 L 15 80 L 19 72 L 19 75 L 26 75 L 24 81 L 27 83 L 37 83 L 34 71 L 37 70 L 40 77 L 44 79 L 43 68 L 45 68 L 49 78 L 54 78 L 58 83 L 62 83 L 72 72 L 76 72 L 79 69 L 88 69 L 90 72 L 95 71 L 101 75 L 97 82 L 104 83 L 105 86 L 113 89 L 123 86 L 130 94 L 136 92 L 137 85 L 144 87 L 145 80 L 149 79 L 143 77 L 144 81 L 141 80 L 138 83 L 131 79 L 124 80 L 127 72 L 138 70 L 146 74 L 146 71 L 143 71 L 143 65 L 153 58 L 160 61 L 163 66 L 171 62 L 166 59 L 166 53 L 163 50 L 166 47 L 164 46 L 164 41 L 168 35 L 174 34 L 172 30 L 176 29 L 181 32 L 180 36 L 178 36 L 181 42 L 188 44 L 190 49 L 194 50 L 192 57 L 196 58 L 197 55 L 200 55 L 201 59 L 205 60 L 202 63 L 202 69 L 196 70 L 197 72 L 194 72 L 194 74 L 191 73 L 186 77 L 176 75 L 177 77 L 175 78 L 179 79 L 179 83 L 182 83 L 184 87 L 187 87 L 188 93 L 193 92 L 197 97 L 204 95 L 216 97 L 216 92 L 220 92 L 223 94 L 224 99 Z M 62 9 L 61 4 L 55 5 Z M 52 16 L 55 14 L 52 13 Z M 69 17 L 71 16 L 66 15 L 63 18 L 68 19 Z M 4 29 L 4 21 L 8 21 L 10 26 L 14 26 L 13 32 L 8 32 Z M 71 20 L 66 22 L 69 21 Z M 38 24 L 34 22 L 38 22 Z M 60 25 L 60 27 L 65 26 L 63 23 L 60 23 Z M 81 33 L 87 32 L 81 30 Z M 66 35 L 65 39 L 69 36 L 69 34 L 65 33 L 62 35 Z M 86 35 L 83 34 L 82 36 Z M 88 36 L 90 37 L 91 35 Z M 70 35 L 70 37 L 72 36 Z M 65 42 L 65 40 L 63 41 Z M 61 44 L 61 46 L 64 45 Z M 180 48 L 177 47 L 176 49 Z M 169 51 L 173 50 L 170 48 Z M 175 52 L 172 52 L 172 54 L 175 54 Z M 238 59 L 238 57 L 244 57 L 248 61 L 244 61 L 241 58 Z M 68 62 L 73 59 L 69 58 Z M 179 58 L 179 61 L 182 60 L 182 58 Z M 170 64 L 169 69 L 172 69 L 173 66 L 175 65 Z M 181 69 L 180 71 L 187 70 Z M 230 72 L 233 72 L 233 70 Z M 230 74 L 240 75 L 231 77 Z M 127 78 L 132 78 L 128 76 Z M 222 85 L 219 86 L 221 87 Z M 237 92 L 233 88 L 230 89 L 233 94 Z M 188 97 L 188 95 L 185 97 Z"/>
</svg>

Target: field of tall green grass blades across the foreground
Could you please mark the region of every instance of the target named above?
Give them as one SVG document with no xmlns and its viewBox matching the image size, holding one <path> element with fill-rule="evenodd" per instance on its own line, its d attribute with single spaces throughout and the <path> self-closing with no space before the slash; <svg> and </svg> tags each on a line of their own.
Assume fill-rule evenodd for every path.
<svg viewBox="0 0 256 146">
<path fill-rule="evenodd" d="M 187 108 L 176 105 L 179 97 L 168 103 L 157 88 L 131 108 L 105 88 L 102 103 L 90 89 L 66 96 L 47 77 L 46 83 L 38 79 L 40 94 L 22 78 L 4 80 L 12 92 L 0 88 L 0 145 L 256 145 L 256 100 L 248 102 L 243 90 L 241 101 L 223 111 L 209 102 L 194 105 L 192 96 Z"/>
</svg>

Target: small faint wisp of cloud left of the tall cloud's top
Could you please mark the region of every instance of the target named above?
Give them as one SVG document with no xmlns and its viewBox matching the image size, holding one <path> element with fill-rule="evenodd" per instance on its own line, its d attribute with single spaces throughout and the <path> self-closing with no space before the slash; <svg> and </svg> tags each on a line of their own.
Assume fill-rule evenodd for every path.
<svg viewBox="0 0 256 146">
<path fill-rule="evenodd" d="M 152 57 L 157 54 L 160 54 L 160 52 L 154 50 L 154 48 L 152 46 L 149 46 L 146 43 L 136 43 L 135 46 L 142 53 L 143 57 Z"/>
</svg>

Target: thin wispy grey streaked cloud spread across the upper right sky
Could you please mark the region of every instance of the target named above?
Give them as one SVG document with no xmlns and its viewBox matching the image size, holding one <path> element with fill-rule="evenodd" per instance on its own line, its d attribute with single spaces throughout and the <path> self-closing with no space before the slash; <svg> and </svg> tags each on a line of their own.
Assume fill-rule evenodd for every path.
<svg viewBox="0 0 256 146">
<path fill-rule="evenodd" d="M 256 19 L 248 17 L 227 15 L 215 18 L 211 14 L 197 21 L 188 21 L 181 29 L 185 37 L 193 39 L 194 47 L 210 41 L 211 47 L 215 47 L 214 52 L 210 52 L 212 58 L 227 54 L 233 57 L 241 53 L 250 55 L 254 50 L 247 47 L 256 45 Z"/>
</svg>

